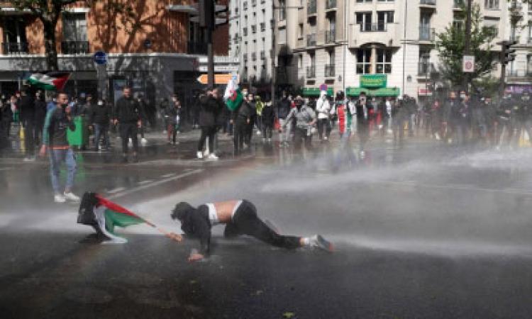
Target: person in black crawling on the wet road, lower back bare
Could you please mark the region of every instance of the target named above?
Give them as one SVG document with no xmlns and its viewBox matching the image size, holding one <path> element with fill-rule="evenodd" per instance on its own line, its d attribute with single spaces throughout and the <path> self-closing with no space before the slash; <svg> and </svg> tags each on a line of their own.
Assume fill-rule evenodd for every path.
<svg viewBox="0 0 532 319">
<path fill-rule="evenodd" d="M 333 251 L 331 242 L 321 235 L 311 237 L 297 237 L 279 235 L 266 223 L 257 217 L 255 205 L 245 199 L 237 201 L 223 201 L 206 203 L 197 208 L 189 203 L 177 203 L 171 215 L 173 220 L 181 222 L 181 229 L 185 237 L 199 240 L 199 250 L 193 249 L 189 262 L 196 262 L 207 257 L 211 248 L 211 228 L 217 224 L 225 224 L 223 236 L 234 238 L 238 235 L 249 235 L 275 247 L 294 250 L 299 247 L 316 247 Z M 182 240 L 181 235 L 171 233 L 170 237 Z"/>
</svg>

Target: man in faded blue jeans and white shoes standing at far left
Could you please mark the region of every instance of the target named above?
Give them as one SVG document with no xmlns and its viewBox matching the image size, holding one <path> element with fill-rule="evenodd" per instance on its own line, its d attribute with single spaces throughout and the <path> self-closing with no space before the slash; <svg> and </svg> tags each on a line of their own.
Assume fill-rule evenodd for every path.
<svg viewBox="0 0 532 319">
<path fill-rule="evenodd" d="M 76 160 L 74 151 L 68 145 L 67 129 L 75 129 L 72 121 L 72 109 L 68 106 L 68 96 L 64 92 L 56 95 L 56 106 L 46 113 L 43 129 L 43 146 L 40 147 L 40 155 L 45 156 L 48 150 L 50 155 L 50 177 L 54 190 L 54 201 L 65 203 L 65 201 L 79 201 L 79 197 L 72 193 L 74 186 L 74 174 L 76 173 Z M 67 165 L 67 183 L 65 191 L 60 187 L 60 165 L 65 162 Z"/>
</svg>

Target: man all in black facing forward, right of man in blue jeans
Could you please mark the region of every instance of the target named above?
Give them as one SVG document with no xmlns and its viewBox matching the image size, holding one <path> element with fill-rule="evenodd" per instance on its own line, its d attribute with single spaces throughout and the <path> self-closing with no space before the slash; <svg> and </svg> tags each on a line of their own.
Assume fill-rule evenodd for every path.
<svg viewBox="0 0 532 319">
<path fill-rule="evenodd" d="M 142 108 L 138 101 L 131 97 L 131 89 L 123 88 L 123 96 L 116 101 L 114 124 L 120 123 L 120 136 L 122 138 L 122 162 L 128 162 L 128 142 L 133 140 L 133 161 L 138 162 L 138 128 L 142 125 Z"/>
</svg>

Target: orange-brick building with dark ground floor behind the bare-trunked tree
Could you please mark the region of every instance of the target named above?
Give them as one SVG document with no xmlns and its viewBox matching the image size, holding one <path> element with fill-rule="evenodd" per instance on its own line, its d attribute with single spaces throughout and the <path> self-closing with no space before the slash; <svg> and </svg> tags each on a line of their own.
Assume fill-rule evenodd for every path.
<svg viewBox="0 0 532 319">
<path fill-rule="evenodd" d="M 131 15 L 110 4 L 131 6 Z M 0 91 L 9 94 L 28 74 L 45 70 L 43 25 L 31 12 L 1 1 L 0 38 Z M 72 72 L 65 88 L 70 94 L 97 94 L 103 86 L 104 96 L 116 99 L 128 84 L 153 102 L 173 93 L 186 102 L 206 72 L 205 36 L 194 1 L 109 0 L 92 6 L 80 1 L 60 17 L 56 38 L 59 68 Z M 103 67 L 94 64 L 97 51 L 108 55 Z M 235 67 L 228 57 L 228 26 L 216 30 L 214 54 L 218 72 Z"/>
</svg>

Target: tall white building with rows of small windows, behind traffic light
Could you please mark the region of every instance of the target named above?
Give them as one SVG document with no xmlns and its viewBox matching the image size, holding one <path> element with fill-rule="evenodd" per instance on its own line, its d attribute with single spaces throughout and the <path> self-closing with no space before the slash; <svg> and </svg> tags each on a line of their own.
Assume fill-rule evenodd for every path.
<svg viewBox="0 0 532 319">
<path fill-rule="evenodd" d="M 272 79 L 272 0 L 229 4 L 229 55 L 238 59 L 240 84 L 257 93 L 270 91 Z"/>
</svg>

